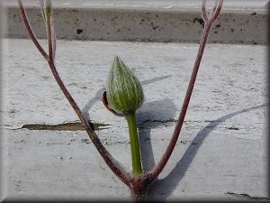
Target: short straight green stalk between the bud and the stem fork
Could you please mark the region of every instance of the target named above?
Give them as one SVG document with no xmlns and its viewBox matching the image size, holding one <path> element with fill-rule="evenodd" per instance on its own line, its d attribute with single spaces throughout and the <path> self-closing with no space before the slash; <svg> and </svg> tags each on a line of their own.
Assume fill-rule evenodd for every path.
<svg viewBox="0 0 270 203">
<path fill-rule="evenodd" d="M 137 123 L 135 112 L 126 115 L 129 132 L 130 132 L 130 150 L 131 150 L 131 160 L 132 160 L 132 173 L 141 174 L 141 161 L 139 153 L 139 139 L 137 133 Z"/>
</svg>

